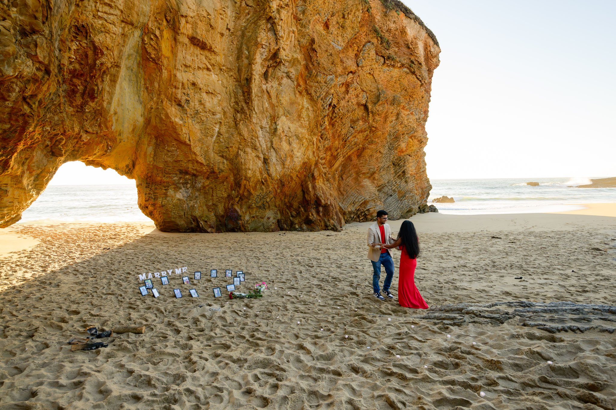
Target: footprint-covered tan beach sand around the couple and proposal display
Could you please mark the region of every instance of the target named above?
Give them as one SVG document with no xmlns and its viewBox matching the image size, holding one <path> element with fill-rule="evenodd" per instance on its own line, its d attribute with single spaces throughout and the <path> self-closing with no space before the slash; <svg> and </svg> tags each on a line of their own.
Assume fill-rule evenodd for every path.
<svg viewBox="0 0 616 410">
<path fill-rule="evenodd" d="M 429 310 L 371 296 L 370 223 L 267 234 L 12 226 L 0 237 L 31 242 L 0 257 L 0 408 L 616 406 L 616 334 L 549 333 L 504 308 L 493 318 L 475 305 L 443 312 L 509 301 L 616 306 L 616 218 L 430 213 L 411 221 L 422 246 L 415 281 Z M 392 231 L 400 223 L 390 221 Z M 182 266 L 191 285 L 171 274 L 169 285 L 153 280 L 160 298 L 140 296 L 139 274 Z M 209 278 L 209 269 L 243 270 L 240 291 L 261 281 L 270 290 L 214 299 L 212 288 L 230 281 Z M 192 280 L 195 270 L 201 280 Z M 66 342 L 88 325 L 146 331 L 71 352 Z"/>
</svg>

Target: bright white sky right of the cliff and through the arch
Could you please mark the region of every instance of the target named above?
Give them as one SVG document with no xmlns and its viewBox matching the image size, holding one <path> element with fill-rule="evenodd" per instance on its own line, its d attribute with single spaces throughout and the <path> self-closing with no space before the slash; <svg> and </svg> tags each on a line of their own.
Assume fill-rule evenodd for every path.
<svg viewBox="0 0 616 410">
<path fill-rule="evenodd" d="M 439 40 L 428 176 L 616 176 L 615 0 L 404 0 Z M 63 165 L 52 184 L 134 184 Z"/>
</svg>

